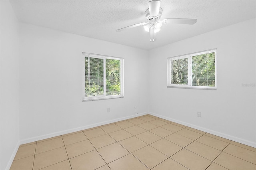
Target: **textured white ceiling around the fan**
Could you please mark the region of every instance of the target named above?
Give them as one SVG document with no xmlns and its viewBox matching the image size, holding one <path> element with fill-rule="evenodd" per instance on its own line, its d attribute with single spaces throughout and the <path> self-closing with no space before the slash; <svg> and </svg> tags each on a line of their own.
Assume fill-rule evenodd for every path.
<svg viewBox="0 0 256 170">
<path fill-rule="evenodd" d="M 143 26 L 148 0 L 11 0 L 20 22 L 141 49 L 152 49 L 256 17 L 255 0 L 161 0 L 164 18 L 196 18 L 194 25 L 164 24 L 150 42 Z M 246 30 L 245 30 L 246 31 Z"/>
</svg>

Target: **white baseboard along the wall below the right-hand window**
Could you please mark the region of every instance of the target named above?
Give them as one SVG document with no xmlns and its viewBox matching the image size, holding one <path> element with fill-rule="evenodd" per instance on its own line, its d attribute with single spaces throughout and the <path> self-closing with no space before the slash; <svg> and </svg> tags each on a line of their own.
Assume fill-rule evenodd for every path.
<svg viewBox="0 0 256 170">
<path fill-rule="evenodd" d="M 229 140 L 233 140 L 235 142 L 239 142 L 239 143 L 242 143 L 242 144 L 246 144 L 248 146 L 252 146 L 254 148 L 256 148 L 256 143 L 255 142 L 251 142 L 251 141 L 248 141 L 248 140 L 244 140 L 242 138 L 238 138 L 238 137 L 235 137 L 235 136 L 231 136 L 231 135 L 228 135 L 228 134 L 224 134 L 222 132 L 217 132 L 217 131 L 214 131 L 214 130 L 210 130 L 208 128 L 204 128 L 204 127 L 199 127 L 199 126 L 196 126 L 196 125 L 192 125 L 190 123 L 186 123 L 186 122 L 182 122 L 182 121 L 178 121 L 176 119 L 171 119 L 169 117 L 165 117 L 165 116 L 162 116 L 162 115 L 158 115 L 158 114 L 155 114 L 155 113 L 151 113 L 149 112 L 150 115 L 153 115 L 153 116 L 156 116 L 156 117 L 160 117 L 162 119 L 166 119 L 168 121 L 172 121 L 172 122 L 175 122 L 175 123 L 179 123 L 181 125 L 184 125 L 184 126 L 187 126 L 187 127 L 191 127 L 191 128 L 195 128 L 197 130 L 201 130 L 203 132 L 207 132 L 207 133 L 210 133 L 210 134 L 214 134 L 216 136 L 220 136 L 222 138 L 226 138 L 226 139 L 229 139 Z"/>
</svg>

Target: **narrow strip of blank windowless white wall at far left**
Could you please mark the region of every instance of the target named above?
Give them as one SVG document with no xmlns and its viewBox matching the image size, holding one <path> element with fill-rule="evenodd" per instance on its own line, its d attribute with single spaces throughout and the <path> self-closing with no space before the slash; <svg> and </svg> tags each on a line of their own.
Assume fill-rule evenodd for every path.
<svg viewBox="0 0 256 170">
<path fill-rule="evenodd" d="M 9 1 L 1 7 L 0 62 L 0 169 L 8 169 L 19 146 L 19 35 Z"/>
</svg>

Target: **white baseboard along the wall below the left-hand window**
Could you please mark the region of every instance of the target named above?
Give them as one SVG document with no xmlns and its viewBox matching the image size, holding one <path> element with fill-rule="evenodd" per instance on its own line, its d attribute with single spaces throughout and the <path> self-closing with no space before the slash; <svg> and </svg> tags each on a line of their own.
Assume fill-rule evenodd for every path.
<svg viewBox="0 0 256 170">
<path fill-rule="evenodd" d="M 55 136 L 60 136 L 60 135 L 63 135 L 63 134 L 77 132 L 79 130 L 84 130 L 84 129 L 88 129 L 88 128 L 98 127 L 98 126 L 101 126 L 101 125 L 106 125 L 106 124 L 109 124 L 109 123 L 123 121 L 123 120 L 126 120 L 126 119 L 131 119 L 131 118 L 134 118 L 134 117 L 139 117 L 139 116 L 143 116 L 143 115 L 147 115 L 147 114 L 149 114 L 149 113 L 148 112 L 138 113 L 138 114 L 135 114 L 135 115 L 130 115 L 130 116 L 122 117 L 122 118 L 118 118 L 118 119 L 112 119 L 112 120 L 109 120 L 109 121 L 104 121 L 104 122 L 100 122 L 100 123 L 86 125 L 86 126 L 83 126 L 83 127 L 72 128 L 72 129 L 68 129 L 68 130 L 63 130 L 63 131 L 59 131 L 59 132 L 54 132 L 54 133 L 50 133 L 50 134 L 41 135 L 41 136 L 35 136 L 35 137 L 32 137 L 32 138 L 27 138 L 27 139 L 20 140 L 20 144 L 26 144 L 26 143 L 35 142 L 35 141 L 38 141 L 38 140 L 52 138 L 52 137 L 55 137 Z"/>
</svg>

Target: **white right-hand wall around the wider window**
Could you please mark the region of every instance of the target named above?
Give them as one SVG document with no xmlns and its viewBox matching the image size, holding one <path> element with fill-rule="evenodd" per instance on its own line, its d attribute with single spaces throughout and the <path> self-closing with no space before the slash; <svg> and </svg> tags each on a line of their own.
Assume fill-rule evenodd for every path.
<svg viewBox="0 0 256 170">
<path fill-rule="evenodd" d="M 149 111 L 256 147 L 255 19 L 152 49 Z M 217 48 L 217 90 L 167 88 L 167 58 Z M 242 84 L 253 83 L 254 87 Z M 202 117 L 196 117 L 197 111 Z"/>
</svg>

